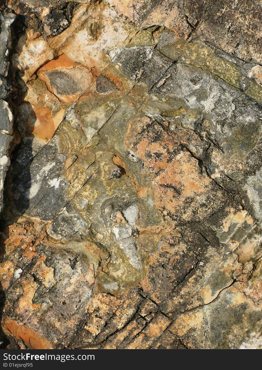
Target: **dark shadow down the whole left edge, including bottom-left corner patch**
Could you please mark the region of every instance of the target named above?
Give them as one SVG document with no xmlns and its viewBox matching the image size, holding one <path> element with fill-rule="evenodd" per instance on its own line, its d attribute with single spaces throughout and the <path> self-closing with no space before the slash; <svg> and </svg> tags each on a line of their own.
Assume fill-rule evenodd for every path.
<svg viewBox="0 0 262 370">
<path fill-rule="evenodd" d="M 23 72 L 19 71 L 17 65 L 12 63 L 11 58 L 17 53 L 17 43 L 21 36 L 25 34 L 25 17 L 23 15 L 17 15 L 13 24 L 11 24 L 11 47 L 9 50 L 10 67 L 8 73 L 8 80 L 13 85 L 13 93 L 9 98 L 9 107 L 13 113 L 14 121 L 14 139 L 9 149 L 10 167 L 7 172 L 4 181 L 4 193 L 3 193 L 3 211 L 0 215 L 0 263 L 9 259 L 9 256 L 5 255 L 6 240 L 9 239 L 9 225 L 16 223 L 21 215 L 26 212 L 29 207 L 29 192 L 31 187 L 31 175 L 30 175 L 30 164 L 33 160 L 32 154 L 32 142 L 33 142 L 33 127 L 36 121 L 33 109 L 28 102 L 24 101 L 26 96 L 27 87 L 21 80 Z M 24 43 L 26 42 L 26 37 Z M 20 48 L 23 45 L 20 45 Z M 20 110 L 19 107 L 23 104 L 28 106 L 28 112 L 30 114 L 30 127 L 31 132 L 21 130 L 23 122 L 19 121 Z M 8 312 L 4 312 L 4 306 L 6 301 L 6 294 L 4 292 L 2 284 L 0 284 L 0 323 L 3 324 L 5 315 Z M 10 337 L 4 333 L 0 326 L 0 348 L 4 349 L 8 346 L 8 349 L 17 349 L 16 344 Z"/>
</svg>

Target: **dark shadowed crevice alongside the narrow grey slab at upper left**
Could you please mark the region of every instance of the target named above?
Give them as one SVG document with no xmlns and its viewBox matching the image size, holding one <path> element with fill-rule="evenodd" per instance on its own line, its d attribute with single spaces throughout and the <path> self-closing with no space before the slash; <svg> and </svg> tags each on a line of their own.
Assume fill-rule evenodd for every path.
<svg viewBox="0 0 262 370">
<path fill-rule="evenodd" d="M 27 86 L 23 82 L 23 72 L 17 68 L 19 51 L 16 46 L 19 39 L 24 36 L 26 25 L 23 15 L 17 16 L 11 27 L 12 40 L 14 40 L 13 48 L 10 55 L 16 61 L 11 70 L 10 79 L 13 82 L 17 91 L 13 93 L 10 101 L 10 107 L 14 115 L 14 141 L 11 148 L 11 165 L 9 168 L 7 186 L 4 186 L 4 206 L 12 208 L 14 216 L 22 215 L 29 208 L 29 191 L 31 187 L 30 164 L 33 160 L 32 143 L 33 143 L 33 128 L 36 122 L 36 115 L 30 103 L 24 98 L 27 94 Z M 17 31 L 20 30 L 20 31 Z M 26 43 L 24 38 L 22 49 Z M 10 63 L 11 65 L 11 63 Z M 21 114 L 23 110 L 23 114 Z M 20 117 L 23 117 L 22 119 Z M 27 124 L 30 121 L 30 125 Z M 13 221 L 13 220 L 10 220 Z M 17 221 L 17 220 L 16 220 Z"/>
</svg>

